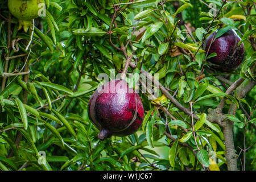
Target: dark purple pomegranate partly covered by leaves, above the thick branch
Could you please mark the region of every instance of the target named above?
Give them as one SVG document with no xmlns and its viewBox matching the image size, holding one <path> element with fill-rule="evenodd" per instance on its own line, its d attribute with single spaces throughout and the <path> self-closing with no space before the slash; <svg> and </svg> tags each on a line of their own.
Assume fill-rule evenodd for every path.
<svg viewBox="0 0 256 182">
<path fill-rule="evenodd" d="M 232 72 L 238 68 L 245 56 L 245 46 L 243 43 L 238 46 L 241 38 L 233 29 L 229 29 L 225 34 L 214 40 L 216 34 L 208 36 L 204 43 L 205 51 L 208 55 L 215 52 L 217 56 L 207 59 L 210 68 L 217 71 Z M 210 46 L 212 42 L 212 45 Z M 210 47 L 210 48 L 209 48 Z"/>
</svg>

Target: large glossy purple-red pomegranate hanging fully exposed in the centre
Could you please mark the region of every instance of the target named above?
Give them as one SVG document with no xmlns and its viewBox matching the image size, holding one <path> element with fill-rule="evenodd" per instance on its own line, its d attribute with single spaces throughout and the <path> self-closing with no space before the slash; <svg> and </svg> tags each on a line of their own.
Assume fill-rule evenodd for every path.
<svg viewBox="0 0 256 182">
<path fill-rule="evenodd" d="M 90 121 L 100 130 L 98 138 L 123 137 L 135 133 L 144 118 L 138 93 L 125 80 L 112 80 L 100 86 L 88 104 Z"/>
</svg>

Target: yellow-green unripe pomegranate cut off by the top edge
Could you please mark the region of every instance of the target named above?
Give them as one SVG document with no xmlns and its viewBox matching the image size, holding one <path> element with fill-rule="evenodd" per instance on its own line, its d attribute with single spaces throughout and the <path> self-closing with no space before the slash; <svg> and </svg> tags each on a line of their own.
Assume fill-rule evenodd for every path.
<svg viewBox="0 0 256 182">
<path fill-rule="evenodd" d="M 18 30 L 22 27 L 24 32 L 27 32 L 28 28 L 32 29 L 32 20 L 38 18 L 45 7 L 40 3 L 44 3 L 44 0 L 8 0 L 10 13 L 19 20 Z"/>
</svg>

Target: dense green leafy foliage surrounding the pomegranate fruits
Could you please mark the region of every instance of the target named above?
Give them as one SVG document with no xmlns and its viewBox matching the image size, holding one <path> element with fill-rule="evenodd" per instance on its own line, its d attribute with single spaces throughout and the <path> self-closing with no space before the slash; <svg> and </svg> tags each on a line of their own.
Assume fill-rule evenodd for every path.
<svg viewBox="0 0 256 182">
<path fill-rule="evenodd" d="M 245 78 L 227 96 L 223 113 L 237 105 L 227 116 L 234 122 L 237 168 L 254 170 L 256 89 L 243 98 L 239 94 L 255 80 L 250 71 L 255 68 L 255 1 L 204 2 L 216 3 L 217 17 L 196 0 L 46 1 L 48 13 L 35 19 L 26 51 L 32 30 L 18 31 L 7 1 L 0 0 L 0 169 L 227 170 L 224 133 L 208 121 L 209 109 L 218 107 L 230 86 L 216 77 L 221 76 L 232 83 Z M 201 46 L 210 33 L 227 27 L 242 38 L 245 61 L 232 73 L 209 71 L 209 55 Z M 98 140 L 87 113 L 101 82 L 97 76 L 122 72 L 130 55 L 138 69 L 130 67 L 129 73 L 159 73 L 164 88 L 199 119 L 191 119 L 160 90 L 154 101 L 139 93 L 145 116 L 137 133 Z M 250 147 L 246 158 L 244 147 Z M 39 151 L 46 152 L 46 164 L 38 162 Z M 210 151 L 216 163 L 209 162 Z"/>
</svg>

